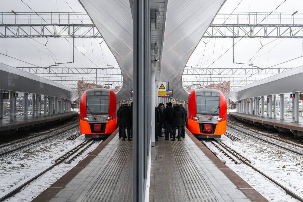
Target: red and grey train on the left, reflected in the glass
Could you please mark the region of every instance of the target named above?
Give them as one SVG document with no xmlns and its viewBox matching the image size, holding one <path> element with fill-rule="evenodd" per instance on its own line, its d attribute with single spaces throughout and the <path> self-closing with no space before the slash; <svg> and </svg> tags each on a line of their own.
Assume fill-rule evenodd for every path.
<svg viewBox="0 0 303 202">
<path fill-rule="evenodd" d="M 80 100 L 80 132 L 85 137 L 105 137 L 117 128 L 117 98 L 110 89 L 86 90 Z"/>
</svg>

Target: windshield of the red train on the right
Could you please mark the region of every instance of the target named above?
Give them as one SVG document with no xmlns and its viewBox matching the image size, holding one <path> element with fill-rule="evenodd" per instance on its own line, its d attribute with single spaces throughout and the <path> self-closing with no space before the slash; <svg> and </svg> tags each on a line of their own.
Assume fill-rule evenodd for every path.
<svg viewBox="0 0 303 202">
<path fill-rule="evenodd" d="M 197 96 L 196 100 L 197 114 L 219 115 L 220 96 Z"/>
</svg>

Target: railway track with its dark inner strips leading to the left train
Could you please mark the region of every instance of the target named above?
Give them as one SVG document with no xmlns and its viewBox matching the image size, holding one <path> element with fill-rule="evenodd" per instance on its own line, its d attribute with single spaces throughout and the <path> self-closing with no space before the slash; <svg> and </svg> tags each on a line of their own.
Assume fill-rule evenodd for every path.
<svg viewBox="0 0 303 202">
<path fill-rule="evenodd" d="M 32 181 L 34 181 L 35 179 L 37 179 L 38 177 L 40 177 L 41 175 L 43 175 L 44 173 L 46 173 L 48 170 L 51 170 L 53 167 L 55 167 L 55 166 L 59 165 L 60 163 L 62 163 L 68 157 L 71 157 L 75 152 L 77 152 L 78 150 L 80 150 L 85 145 L 87 145 L 87 144 L 91 145 L 92 144 L 91 142 L 93 142 L 93 141 L 91 141 L 91 139 L 83 141 L 82 143 L 80 143 L 77 146 L 75 146 L 72 150 L 68 151 L 67 153 L 65 153 L 62 156 L 60 156 L 57 159 L 55 159 L 55 162 L 54 162 L 54 160 L 52 160 L 52 162 L 54 162 L 54 164 L 52 164 L 50 167 L 48 167 L 47 169 L 45 169 L 42 172 L 40 172 L 39 174 L 37 174 L 35 177 L 32 177 L 30 180 L 27 180 L 25 183 L 23 183 L 22 185 L 18 186 L 17 188 L 15 188 L 11 192 L 9 192 L 8 194 L 6 194 L 2 198 L 0 198 L 0 201 L 3 201 L 5 199 L 13 196 L 14 194 L 17 194 L 18 192 L 20 192 L 20 190 L 23 187 L 25 187 L 26 185 L 28 185 L 29 183 L 31 183 Z"/>
</svg>

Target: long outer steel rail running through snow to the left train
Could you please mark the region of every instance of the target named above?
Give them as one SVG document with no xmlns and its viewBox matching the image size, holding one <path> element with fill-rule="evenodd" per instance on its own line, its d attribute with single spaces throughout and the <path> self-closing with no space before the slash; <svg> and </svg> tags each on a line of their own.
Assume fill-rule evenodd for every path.
<svg viewBox="0 0 303 202">
<path fill-rule="evenodd" d="M 4 201 L 5 199 L 13 196 L 14 194 L 17 194 L 18 192 L 20 192 L 20 190 L 25 187 L 26 185 L 28 185 L 29 183 L 31 183 L 32 181 L 34 181 L 35 179 L 37 179 L 38 177 L 40 177 L 41 175 L 43 175 L 44 173 L 46 173 L 48 170 L 51 170 L 53 167 L 59 165 L 60 163 L 62 163 L 66 158 L 70 157 L 73 153 L 75 153 L 76 151 L 78 151 L 80 148 L 82 148 L 83 146 L 85 146 L 91 139 L 87 140 L 84 144 L 82 144 L 82 146 L 79 147 L 79 145 L 77 145 L 76 147 L 78 147 L 78 149 L 76 149 L 74 152 L 68 154 L 67 156 L 65 156 L 64 158 L 62 158 L 61 160 L 59 160 L 58 162 L 54 163 L 53 165 L 51 165 L 50 167 L 48 167 L 47 169 L 43 170 L 41 173 L 39 173 L 38 175 L 36 175 L 35 177 L 32 177 L 30 180 L 26 181 L 25 183 L 23 183 L 22 185 L 20 185 L 19 187 L 17 187 L 16 189 L 12 190 L 11 192 L 9 192 L 8 194 L 6 194 L 5 196 L 3 196 L 2 198 L 0 198 L 0 201 Z"/>
</svg>

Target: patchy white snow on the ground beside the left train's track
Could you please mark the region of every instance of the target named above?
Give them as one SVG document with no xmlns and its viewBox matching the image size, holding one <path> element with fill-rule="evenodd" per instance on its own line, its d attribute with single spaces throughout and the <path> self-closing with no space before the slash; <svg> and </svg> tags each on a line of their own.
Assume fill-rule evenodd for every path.
<svg viewBox="0 0 303 202">
<path fill-rule="evenodd" d="M 36 143 L 2 156 L 0 159 L 0 197 L 51 166 L 52 159 L 62 155 L 86 139 L 83 135 L 76 140 L 65 140 L 65 138 L 77 132 L 79 132 L 79 129 L 75 127 L 60 135 L 44 140 L 41 143 Z M 95 145 L 96 143 L 93 146 Z M 80 158 L 84 157 L 93 146 L 88 148 Z M 17 194 L 18 196 L 16 195 L 14 199 L 10 200 L 15 201 L 16 197 L 19 197 L 20 200 L 28 201 L 31 197 L 38 196 L 39 193 L 74 167 L 80 158 L 78 157 L 78 159 L 71 164 L 63 163 L 54 167 L 41 176 L 39 180 L 35 180 L 37 182 L 32 182 L 35 186 L 29 186 L 28 189 L 25 188 L 25 191 L 21 191 L 20 194 Z M 12 164 L 9 164 L 10 162 Z"/>
</svg>

